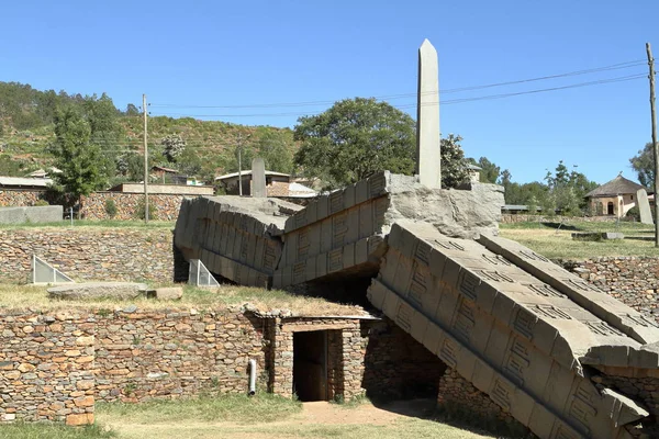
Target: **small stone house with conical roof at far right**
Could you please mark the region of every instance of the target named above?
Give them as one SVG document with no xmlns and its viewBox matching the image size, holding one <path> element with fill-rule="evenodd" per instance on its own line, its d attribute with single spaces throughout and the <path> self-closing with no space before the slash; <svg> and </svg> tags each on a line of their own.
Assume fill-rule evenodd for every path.
<svg viewBox="0 0 659 439">
<path fill-rule="evenodd" d="M 622 175 L 585 194 L 588 205 L 596 215 L 623 217 L 636 205 L 636 191 L 643 185 Z"/>
</svg>

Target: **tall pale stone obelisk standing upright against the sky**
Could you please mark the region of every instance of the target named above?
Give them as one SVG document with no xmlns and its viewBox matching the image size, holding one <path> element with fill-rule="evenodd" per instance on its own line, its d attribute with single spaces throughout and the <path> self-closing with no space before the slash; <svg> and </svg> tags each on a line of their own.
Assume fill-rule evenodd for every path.
<svg viewBox="0 0 659 439">
<path fill-rule="evenodd" d="M 439 146 L 439 67 L 437 50 L 425 40 L 418 48 L 416 173 L 428 188 L 442 187 Z"/>
</svg>

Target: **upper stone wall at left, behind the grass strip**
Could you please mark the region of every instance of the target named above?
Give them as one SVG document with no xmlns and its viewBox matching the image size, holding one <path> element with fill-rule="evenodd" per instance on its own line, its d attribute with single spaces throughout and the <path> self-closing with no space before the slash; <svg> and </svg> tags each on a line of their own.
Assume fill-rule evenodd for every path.
<svg viewBox="0 0 659 439">
<path fill-rule="evenodd" d="M 0 229 L 0 281 L 25 282 L 32 255 L 77 281 L 172 280 L 168 228 Z"/>
</svg>

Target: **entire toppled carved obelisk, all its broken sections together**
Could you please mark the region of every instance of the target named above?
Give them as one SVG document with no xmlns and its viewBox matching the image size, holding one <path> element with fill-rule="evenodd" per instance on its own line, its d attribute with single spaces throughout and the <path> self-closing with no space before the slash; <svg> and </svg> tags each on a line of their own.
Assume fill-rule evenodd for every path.
<svg viewBox="0 0 659 439">
<path fill-rule="evenodd" d="M 188 200 L 175 245 L 244 285 L 370 279 L 377 308 L 538 437 L 630 438 L 650 413 L 591 374 L 658 374 L 659 325 L 498 237 L 502 203 L 379 172 L 306 207 Z"/>
</svg>

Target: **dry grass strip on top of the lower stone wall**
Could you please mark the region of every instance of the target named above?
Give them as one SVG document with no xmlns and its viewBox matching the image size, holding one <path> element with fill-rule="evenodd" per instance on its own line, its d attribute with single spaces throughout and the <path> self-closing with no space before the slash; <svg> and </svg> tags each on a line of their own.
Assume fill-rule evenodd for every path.
<svg viewBox="0 0 659 439">
<path fill-rule="evenodd" d="M 171 286 L 171 285 L 166 285 Z M 222 285 L 220 288 L 201 289 L 183 286 L 183 297 L 178 301 L 156 301 L 139 296 L 130 300 L 88 300 L 64 301 L 48 299 L 47 285 L 0 284 L 0 308 L 31 309 L 121 309 L 135 305 L 139 309 L 163 308 L 226 308 L 228 306 L 250 303 L 259 312 L 272 309 L 290 309 L 295 315 L 361 315 L 359 306 L 328 302 L 319 297 L 306 297 L 279 290 Z"/>
</svg>

